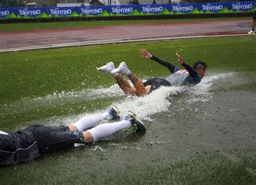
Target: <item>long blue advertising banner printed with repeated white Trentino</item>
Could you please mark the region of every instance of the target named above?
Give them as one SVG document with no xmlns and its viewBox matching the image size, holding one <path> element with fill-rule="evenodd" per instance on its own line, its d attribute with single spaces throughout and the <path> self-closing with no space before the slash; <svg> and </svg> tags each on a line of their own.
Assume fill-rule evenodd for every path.
<svg viewBox="0 0 256 185">
<path fill-rule="evenodd" d="M 0 8 L 0 18 L 149 16 L 194 13 L 240 13 L 253 11 L 254 1 L 76 7 L 22 7 Z"/>
</svg>

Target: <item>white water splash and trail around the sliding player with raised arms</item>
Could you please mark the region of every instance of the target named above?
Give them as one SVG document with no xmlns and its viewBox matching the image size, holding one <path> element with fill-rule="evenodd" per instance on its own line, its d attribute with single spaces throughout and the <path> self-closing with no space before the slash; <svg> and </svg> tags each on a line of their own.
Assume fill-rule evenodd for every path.
<svg viewBox="0 0 256 185">
<path fill-rule="evenodd" d="M 179 92 L 186 91 L 190 98 L 186 99 L 187 103 L 195 101 L 210 101 L 212 94 L 210 89 L 214 81 L 220 79 L 233 80 L 234 73 L 217 73 L 211 74 L 202 79 L 198 85 L 186 88 L 186 87 L 161 87 L 156 91 L 153 91 L 145 97 L 127 96 L 125 97 L 122 90 L 118 85 L 112 85 L 109 88 L 98 88 L 95 90 L 83 90 L 80 92 L 62 92 L 46 95 L 45 97 L 23 99 L 10 105 L 0 105 L 1 114 L 22 113 L 29 109 L 43 109 L 49 106 L 59 106 L 66 102 L 76 103 L 86 97 L 86 100 L 100 100 L 111 97 L 124 97 L 125 99 L 116 100 L 113 105 L 116 105 L 124 116 L 127 111 L 136 113 L 140 118 L 144 120 L 151 120 L 151 115 L 166 112 L 173 103 L 172 97 Z M 106 109 L 97 110 L 94 114 L 102 113 Z M 69 117 L 51 117 L 46 118 L 45 123 L 63 123 L 65 125 L 72 124 L 74 121 L 86 116 L 85 114 L 72 115 Z M 40 120 L 42 121 L 42 120 Z M 42 122 L 44 123 L 44 121 Z"/>
</svg>

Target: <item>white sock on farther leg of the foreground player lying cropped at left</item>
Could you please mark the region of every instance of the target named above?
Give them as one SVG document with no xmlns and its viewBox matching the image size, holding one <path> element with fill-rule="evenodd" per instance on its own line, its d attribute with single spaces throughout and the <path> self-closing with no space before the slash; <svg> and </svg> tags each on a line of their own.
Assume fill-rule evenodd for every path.
<svg viewBox="0 0 256 185">
<path fill-rule="evenodd" d="M 77 121 L 73 126 L 77 127 L 79 132 L 83 132 L 85 129 L 91 128 L 93 125 L 98 124 L 102 120 L 111 120 L 112 115 L 109 112 L 105 112 L 97 115 L 89 115 Z"/>
</svg>

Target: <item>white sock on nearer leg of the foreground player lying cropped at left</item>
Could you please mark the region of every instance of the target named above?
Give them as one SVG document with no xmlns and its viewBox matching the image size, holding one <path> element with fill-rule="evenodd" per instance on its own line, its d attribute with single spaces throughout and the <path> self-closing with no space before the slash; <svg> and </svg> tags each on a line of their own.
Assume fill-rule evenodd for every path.
<svg viewBox="0 0 256 185">
<path fill-rule="evenodd" d="M 125 128 L 130 128 L 131 126 L 132 125 L 129 120 L 122 120 L 110 124 L 102 124 L 87 131 L 91 133 L 93 142 L 96 142 Z"/>
</svg>

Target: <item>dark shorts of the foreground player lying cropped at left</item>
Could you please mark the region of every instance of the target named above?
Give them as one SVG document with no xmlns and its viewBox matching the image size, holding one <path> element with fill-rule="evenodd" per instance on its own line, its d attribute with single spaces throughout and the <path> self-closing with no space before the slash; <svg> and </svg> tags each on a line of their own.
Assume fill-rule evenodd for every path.
<svg viewBox="0 0 256 185">
<path fill-rule="evenodd" d="M 68 126 L 33 125 L 26 129 L 35 137 L 40 153 L 73 148 L 75 143 L 85 144 L 82 133 L 71 132 Z"/>
</svg>

